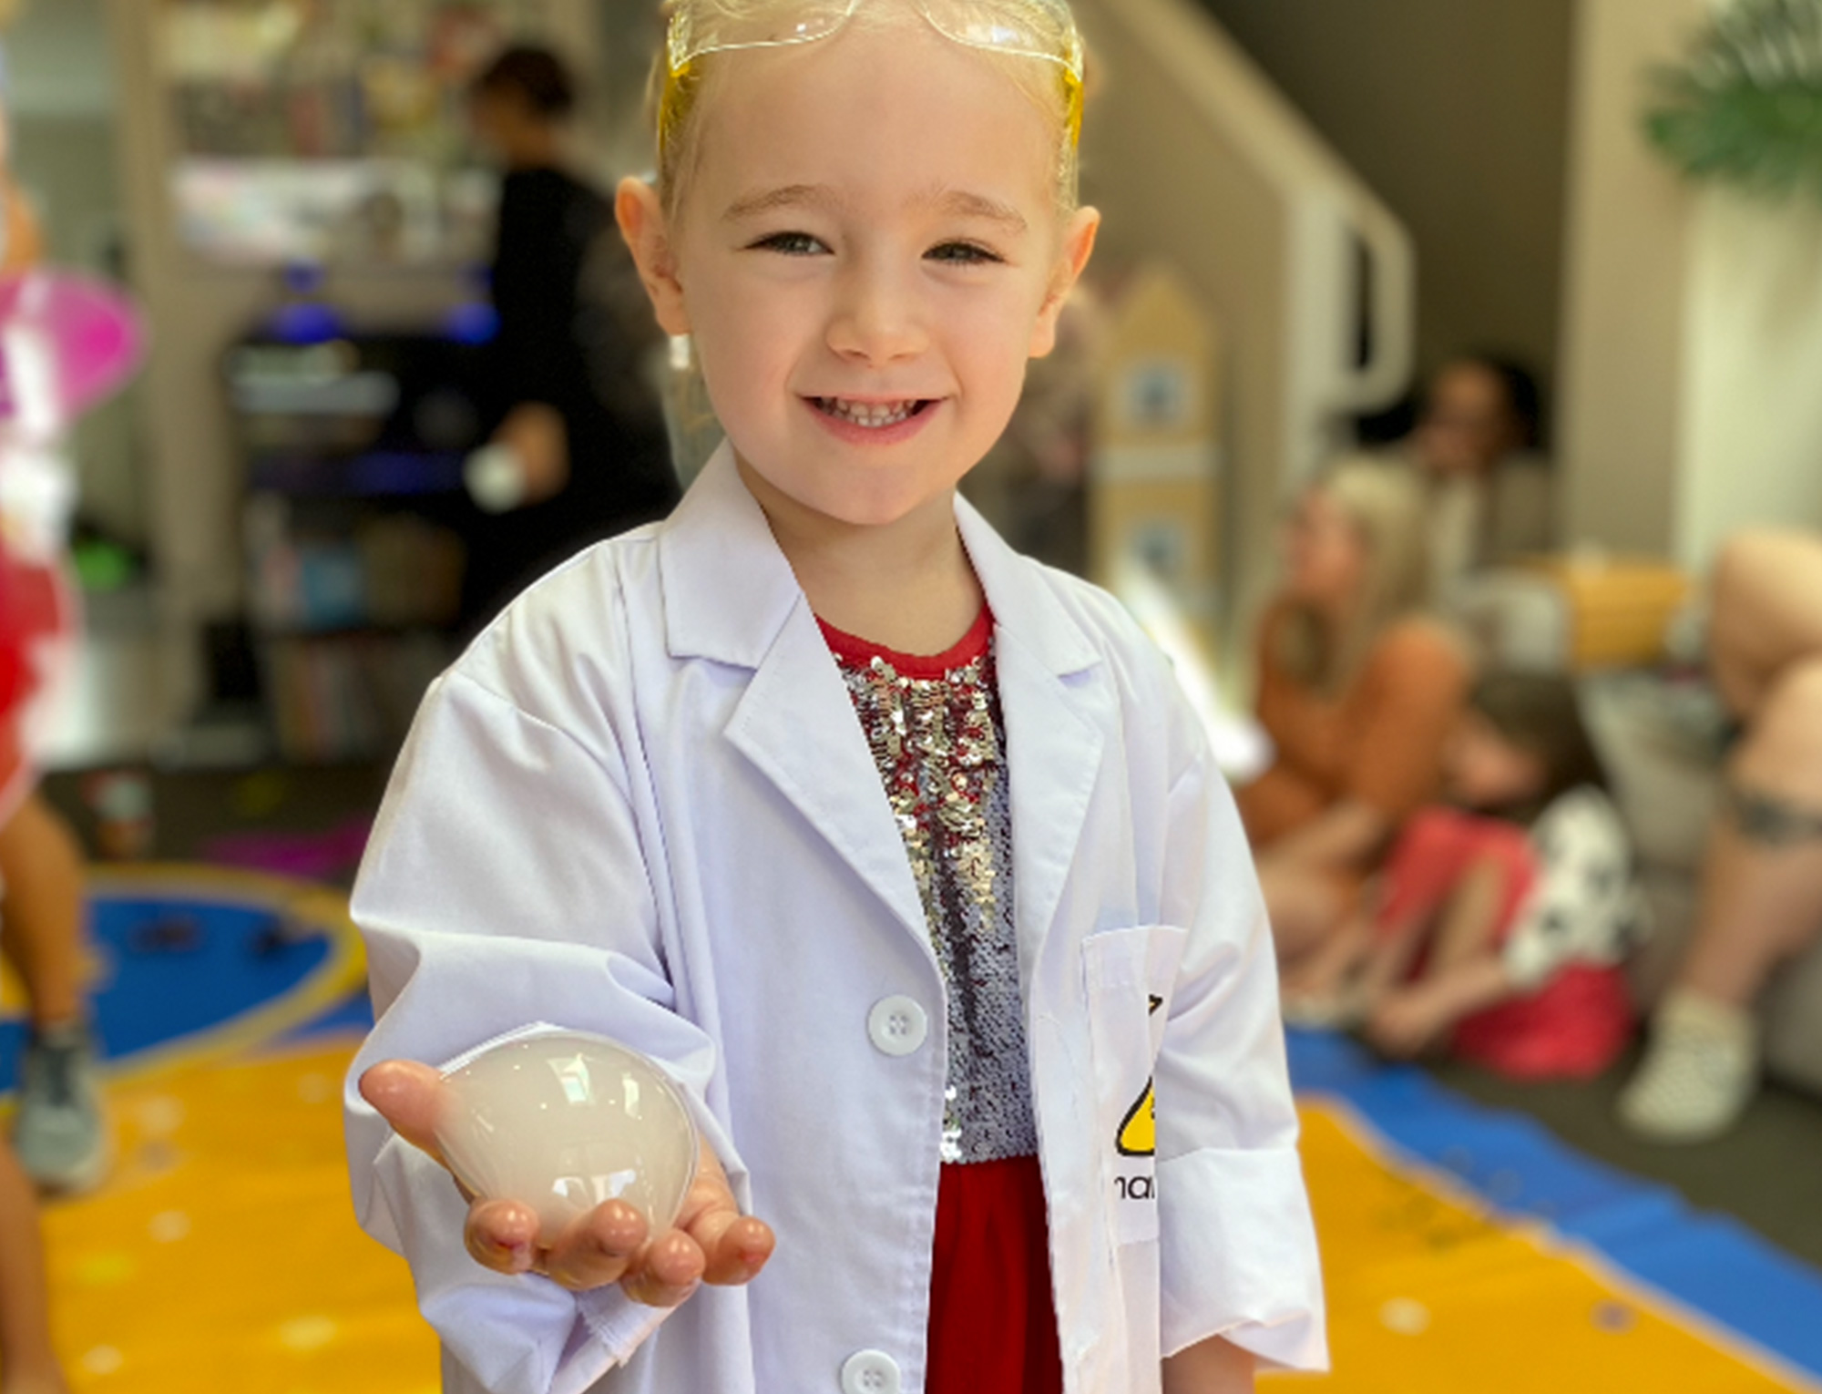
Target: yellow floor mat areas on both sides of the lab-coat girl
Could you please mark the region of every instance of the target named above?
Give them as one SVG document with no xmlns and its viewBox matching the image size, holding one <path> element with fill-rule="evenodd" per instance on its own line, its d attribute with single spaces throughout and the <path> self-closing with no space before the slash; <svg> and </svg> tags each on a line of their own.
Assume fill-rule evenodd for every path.
<svg viewBox="0 0 1822 1394">
<path fill-rule="evenodd" d="M 46 1215 L 58 1345 L 84 1394 L 428 1394 L 404 1265 L 355 1226 L 350 1040 L 179 1064 L 113 1092 L 120 1161 Z M 1305 1106 L 1341 1394 L 1807 1389 L 1543 1230 L 1490 1219 Z M 1277 1383 L 1277 1381 L 1272 1381 Z M 1288 1383 L 1288 1381 L 1286 1381 Z"/>
</svg>

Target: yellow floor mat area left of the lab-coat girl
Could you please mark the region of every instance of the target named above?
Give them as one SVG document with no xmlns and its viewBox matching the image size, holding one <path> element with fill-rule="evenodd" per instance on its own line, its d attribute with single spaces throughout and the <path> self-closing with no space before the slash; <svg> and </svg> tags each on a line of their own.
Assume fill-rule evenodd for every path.
<svg viewBox="0 0 1822 1394">
<path fill-rule="evenodd" d="M 404 1263 L 355 1226 L 353 1044 L 117 1086 L 118 1164 L 46 1212 L 58 1348 L 95 1394 L 432 1394 Z"/>
</svg>

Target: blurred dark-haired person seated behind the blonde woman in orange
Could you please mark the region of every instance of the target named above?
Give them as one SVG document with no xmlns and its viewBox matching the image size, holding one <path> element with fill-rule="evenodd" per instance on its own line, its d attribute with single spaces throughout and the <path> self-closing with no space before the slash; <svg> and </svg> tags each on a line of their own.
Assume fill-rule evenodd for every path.
<svg viewBox="0 0 1822 1394">
<path fill-rule="evenodd" d="M 1428 494 L 1438 596 L 1476 570 L 1556 545 L 1554 481 L 1540 445 L 1538 383 L 1520 364 L 1467 355 L 1430 379 L 1403 454 Z"/>
</svg>

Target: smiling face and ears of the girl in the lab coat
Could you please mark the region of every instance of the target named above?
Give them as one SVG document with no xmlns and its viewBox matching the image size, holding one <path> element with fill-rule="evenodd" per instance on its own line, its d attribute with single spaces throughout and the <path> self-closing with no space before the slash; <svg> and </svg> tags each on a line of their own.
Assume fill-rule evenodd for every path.
<svg viewBox="0 0 1822 1394">
<path fill-rule="evenodd" d="M 680 226 L 632 182 L 621 226 L 747 468 L 895 523 L 1006 428 L 1097 215 L 1060 224 L 1053 128 L 927 24 L 720 62 Z"/>
</svg>

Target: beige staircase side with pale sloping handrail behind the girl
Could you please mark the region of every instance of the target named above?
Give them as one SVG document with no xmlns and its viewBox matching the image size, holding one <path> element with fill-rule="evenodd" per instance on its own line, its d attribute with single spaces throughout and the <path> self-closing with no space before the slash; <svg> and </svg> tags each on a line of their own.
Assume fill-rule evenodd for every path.
<svg viewBox="0 0 1822 1394">
<path fill-rule="evenodd" d="M 1248 652 L 1286 492 L 1343 423 L 1410 381 L 1410 239 L 1257 64 L 1190 0 L 1077 0 L 1097 60 L 1082 193 L 1104 272 L 1162 261 L 1219 324 L 1226 419 L 1217 610 Z M 1372 250 L 1372 363 L 1357 364 L 1356 241 Z"/>
</svg>

